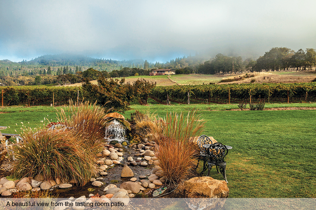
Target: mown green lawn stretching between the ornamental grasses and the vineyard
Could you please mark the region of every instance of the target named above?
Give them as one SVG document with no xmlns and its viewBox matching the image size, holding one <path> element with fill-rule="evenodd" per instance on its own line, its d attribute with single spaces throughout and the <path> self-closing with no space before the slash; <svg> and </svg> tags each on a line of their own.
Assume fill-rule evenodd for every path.
<svg viewBox="0 0 316 210">
<path fill-rule="evenodd" d="M 315 107 L 315 104 L 291 105 Z M 123 113 L 125 118 L 130 118 L 135 110 L 165 116 L 170 111 L 187 113 L 196 108 L 206 120 L 204 134 L 233 147 L 226 158 L 230 198 L 316 196 L 315 110 L 223 111 L 237 108 L 237 105 L 166 106 L 154 102 L 149 106 L 135 104 L 131 108 Z M 21 122 L 33 128 L 41 125 L 44 117 L 56 121 L 55 109 L 51 107 L 0 108 L 0 112 L 5 111 L 10 113 L 0 114 L 0 124 L 10 128 L 3 133 L 19 131 Z M 223 179 L 215 169 L 210 176 Z"/>
</svg>

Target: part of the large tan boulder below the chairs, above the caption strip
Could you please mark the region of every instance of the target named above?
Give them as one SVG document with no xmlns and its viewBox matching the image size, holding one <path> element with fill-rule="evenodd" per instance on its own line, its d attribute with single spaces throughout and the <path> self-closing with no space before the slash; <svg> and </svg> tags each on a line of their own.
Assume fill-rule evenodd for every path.
<svg viewBox="0 0 316 210">
<path fill-rule="evenodd" d="M 224 180 L 202 176 L 185 181 L 183 192 L 186 198 L 227 198 L 229 189 Z"/>
</svg>

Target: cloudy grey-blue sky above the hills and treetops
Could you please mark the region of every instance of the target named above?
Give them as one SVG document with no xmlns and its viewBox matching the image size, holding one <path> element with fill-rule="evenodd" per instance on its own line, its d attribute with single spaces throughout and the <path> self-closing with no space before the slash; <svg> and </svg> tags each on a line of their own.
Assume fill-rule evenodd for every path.
<svg viewBox="0 0 316 210">
<path fill-rule="evenodd" d="M 314 0 L 0 0 L 0 60 L 72 53 L 155 63 L 316 48 Z"/>
</svg>

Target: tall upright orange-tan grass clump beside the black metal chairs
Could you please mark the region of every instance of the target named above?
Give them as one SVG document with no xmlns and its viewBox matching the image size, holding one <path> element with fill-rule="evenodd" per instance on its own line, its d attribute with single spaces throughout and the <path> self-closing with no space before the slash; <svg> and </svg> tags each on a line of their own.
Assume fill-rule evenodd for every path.
<svg viewBox="0 0 316 210">
<path fill-rule="evenodd" d="M 194 138 L 191 137 L 199 136 L 203 131 L 205 121 L 200 118 L 201 115 L 193 111 L 186 117 L 182 112 L 180 115 L 168 113 L 165 119 L 155 121 L 153 139 L 157 143 L 157 167 L 169 184 L 183 182 L 192 175 L 196 158 Z"/>
</svg>

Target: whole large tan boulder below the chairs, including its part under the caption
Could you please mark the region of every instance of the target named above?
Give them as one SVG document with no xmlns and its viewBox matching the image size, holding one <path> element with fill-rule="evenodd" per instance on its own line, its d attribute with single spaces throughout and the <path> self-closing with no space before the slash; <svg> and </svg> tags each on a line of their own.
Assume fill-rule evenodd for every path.
<svg viewBox="0 0 316 210">
<path fill-rule="evenodd" d="M 228 197 L 229 189 L 224 180 L 221 181 L 209 176 L 203 176 L 185 181 L 183 192 L 184 200 L 189 208 L 192 210 L 210 210 L 223 207 Z"/>
</svg>

